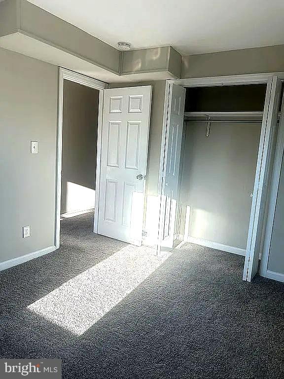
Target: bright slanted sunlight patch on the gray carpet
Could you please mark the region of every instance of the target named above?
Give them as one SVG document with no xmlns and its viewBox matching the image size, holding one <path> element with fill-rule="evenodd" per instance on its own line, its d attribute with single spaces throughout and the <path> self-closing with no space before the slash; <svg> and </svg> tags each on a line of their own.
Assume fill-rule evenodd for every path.
<svg viewBox="0 0 284 379">
<path fill-rule="evenodd" d="M 170 253 L 157 257 L 145 246 L 126 246 L 32 303 L 28 309 L 80 336 L 169 256 Z"/>
</svg>

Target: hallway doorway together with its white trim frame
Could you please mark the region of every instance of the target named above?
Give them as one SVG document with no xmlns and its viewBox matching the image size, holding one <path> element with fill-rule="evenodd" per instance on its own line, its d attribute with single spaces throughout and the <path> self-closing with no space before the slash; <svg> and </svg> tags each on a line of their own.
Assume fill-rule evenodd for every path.
<svg viewBox="0 0 284 379">
<path fill-rule="evenodd" d="M 98 155 L 106 83 L 60 68 L 55 245 L 61 231 L 92 233 L 98 206 Z M 62 226 L 62 230 L 61 230 Z M 65 237 L 64 237 L 65 238 Z M 66 239 L 66 238 L 65 238 Z"/>
</svg>

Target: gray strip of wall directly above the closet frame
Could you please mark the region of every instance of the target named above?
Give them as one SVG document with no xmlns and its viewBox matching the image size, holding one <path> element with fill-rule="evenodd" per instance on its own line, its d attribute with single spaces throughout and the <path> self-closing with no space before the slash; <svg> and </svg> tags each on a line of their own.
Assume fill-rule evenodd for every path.
<svg viewBox="0 0 284 379">
<path fill-rule="evenodd" d="M 182 57 L 181 77 L 206 77 L 284 71 L 284 45 Z"/>
</svg>

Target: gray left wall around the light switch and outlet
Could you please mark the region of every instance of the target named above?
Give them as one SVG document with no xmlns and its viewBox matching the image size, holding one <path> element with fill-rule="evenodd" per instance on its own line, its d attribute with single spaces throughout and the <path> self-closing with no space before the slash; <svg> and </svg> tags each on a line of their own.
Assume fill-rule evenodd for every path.
<svg viewBox="0 0 284 379">
<path fill-rule="evenodd" d="M 0 83 L 3 262 L 54 245 L 58 68 L 0 49 Z"/>
</svg>

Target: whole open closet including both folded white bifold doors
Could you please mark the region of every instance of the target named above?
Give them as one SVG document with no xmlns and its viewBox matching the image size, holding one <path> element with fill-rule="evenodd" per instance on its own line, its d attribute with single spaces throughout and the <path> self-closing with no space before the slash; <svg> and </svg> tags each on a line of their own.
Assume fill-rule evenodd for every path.
<svg viewBox="0 0 284 379">
<path fill-rule="evenodd" d="M 281 87 L 278 79 L 274 84 L 170 84 L 161 251 L 181 241 L 239 254 L 246 256 L 243 278 L 254 276 L 263 245 Z M 257 257 L 248 276 L 250 251 Z"/>
</svg>

